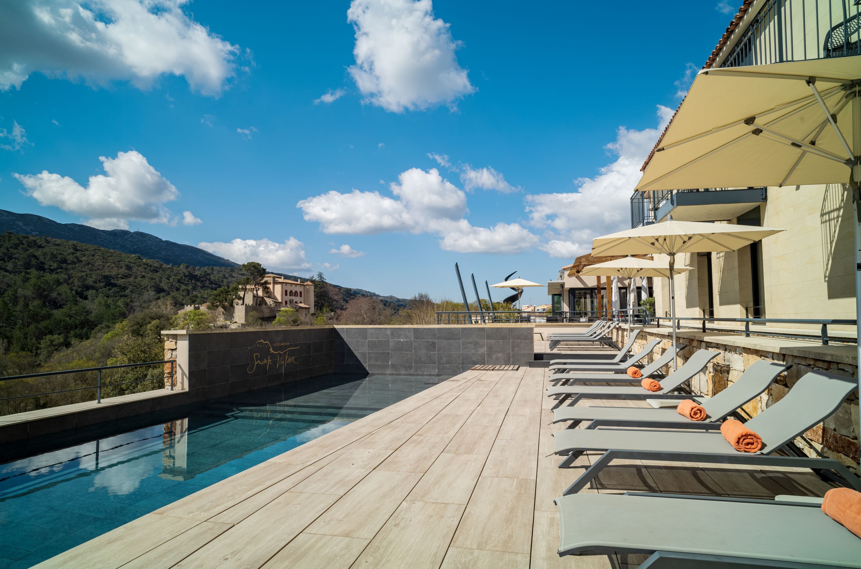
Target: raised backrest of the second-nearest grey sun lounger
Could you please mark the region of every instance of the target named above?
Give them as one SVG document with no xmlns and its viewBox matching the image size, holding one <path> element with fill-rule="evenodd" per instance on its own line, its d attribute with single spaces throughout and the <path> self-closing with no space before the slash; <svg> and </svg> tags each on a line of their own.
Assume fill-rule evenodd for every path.
<svg viewBox="0 0 861 569">
<path fill-rule="evenodd" d="M 813 371 L 790 389 L 790 393 L 747 422 L 747 428 L 762 437 L 763 453 L 772 452 L 830 417 L 846 396 L 858 388 L 858 380 L 844 375 Z"/>
</svg>

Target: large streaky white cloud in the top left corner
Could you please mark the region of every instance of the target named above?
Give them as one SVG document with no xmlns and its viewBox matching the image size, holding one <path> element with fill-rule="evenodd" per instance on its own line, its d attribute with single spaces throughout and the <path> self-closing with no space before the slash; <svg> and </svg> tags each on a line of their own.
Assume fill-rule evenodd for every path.
<svg viewBox="0 0 861 569">
<path fill-rule="evenodd" d="M 188 0 L 36 0 L 0 4 L 0 90 L 31 73 L 146 89 L 163 75 L 185 77 L 217 96 L 234 75 L 238 46 L 183 10 Z M 82 5 L 84 4 L 84 5 Z"/>
</svg>

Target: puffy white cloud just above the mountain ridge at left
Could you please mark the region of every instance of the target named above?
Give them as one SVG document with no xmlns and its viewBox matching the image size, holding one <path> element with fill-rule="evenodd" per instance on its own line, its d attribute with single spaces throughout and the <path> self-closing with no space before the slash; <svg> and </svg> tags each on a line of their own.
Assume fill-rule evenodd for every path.
<svg viewBox="0 0 861 569">
<path fill-rule="evenodd" d="M 169 223 L 170 210 L 164 203 L 174 201 L 179 192 L 158 173 L 139 152 L 118 152 L 116 158 L 99 157 L 106 175 L 90 176 L 84 188 L 69 176 L 13 174 L 24 184 L 25 193 L 42 206 L 84 215 L 87 225 L 100 228 L 128 227 L 127 220 Z"/>
</svg>

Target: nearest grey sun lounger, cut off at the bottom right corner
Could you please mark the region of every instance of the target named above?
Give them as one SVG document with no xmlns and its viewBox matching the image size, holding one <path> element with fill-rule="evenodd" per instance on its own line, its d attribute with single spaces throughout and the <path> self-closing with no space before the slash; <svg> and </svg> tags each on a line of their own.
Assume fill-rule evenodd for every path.
<svg viewBox="0 0 861 569">
<path fill-rule="evenodd" d="M 651 554 L 641 569 L 861 567 L 861 539 L 818 504 L 655 494 L 556 498 L 559 554 Z"/>
</svg>

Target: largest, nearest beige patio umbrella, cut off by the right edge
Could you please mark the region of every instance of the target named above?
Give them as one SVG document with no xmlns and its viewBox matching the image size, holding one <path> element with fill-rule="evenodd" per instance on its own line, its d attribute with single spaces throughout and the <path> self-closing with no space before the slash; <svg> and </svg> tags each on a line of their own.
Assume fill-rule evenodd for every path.
<svg viewBox="0 0 861 569">
<path fill-rule="evenodd" d="M 861 56 L 706 69 L 638 190 L 847 183 L 861 314 Z M 858 343 L 861 361 L 861 343 Z M 861 388 L 861 386 L 859 386 Z"/>
</svg>

